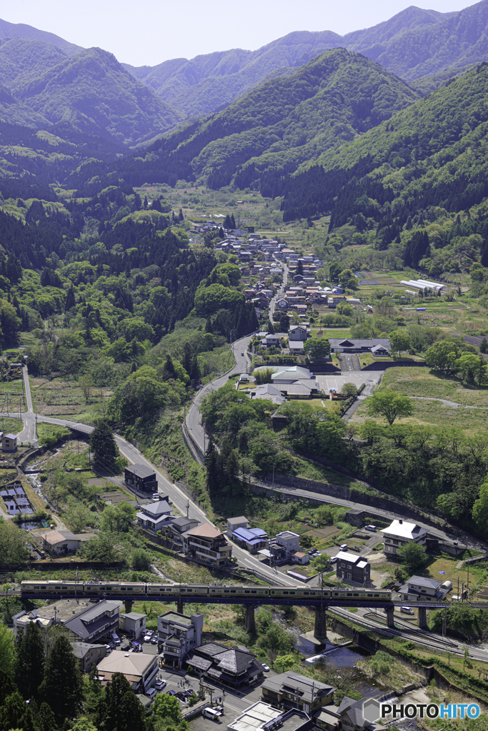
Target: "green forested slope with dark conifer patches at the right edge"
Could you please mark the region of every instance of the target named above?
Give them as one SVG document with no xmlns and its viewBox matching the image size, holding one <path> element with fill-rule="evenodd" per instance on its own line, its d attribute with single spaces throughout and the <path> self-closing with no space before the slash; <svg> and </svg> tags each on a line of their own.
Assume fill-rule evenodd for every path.
<svg viewBox="0 0 488 731">
<path fill-rule="evenodd" d="M 487 265 L 487 95 L 481 64 L 327 152 L 282 186 L 285 220 L 330 212 L 331 231 L 348 225 L 359 243 L 391 248 L 432 276 Z"/>
</svg>

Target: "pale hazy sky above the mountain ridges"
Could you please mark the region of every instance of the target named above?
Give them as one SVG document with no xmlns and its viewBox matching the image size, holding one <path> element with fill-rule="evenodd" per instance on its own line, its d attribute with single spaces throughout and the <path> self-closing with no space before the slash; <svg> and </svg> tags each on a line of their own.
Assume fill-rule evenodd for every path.
<svg viewBox="0 0 488 731">
<path fill-rule="evenodd" d="M 154 66 L 229 48 L 255 50 L 290 31 L 348 33 L 388 20 L 402 0 L 15 0 L 0 18 L 100 46 L 128 64 Z M 421 0 L 417 7 L 462 10 L 473 0 Z"/>
</svg>

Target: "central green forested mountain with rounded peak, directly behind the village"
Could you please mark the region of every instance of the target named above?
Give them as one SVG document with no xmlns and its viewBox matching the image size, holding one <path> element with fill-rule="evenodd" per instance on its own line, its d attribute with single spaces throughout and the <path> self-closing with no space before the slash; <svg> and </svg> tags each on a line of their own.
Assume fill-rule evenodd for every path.
<svg viewBox="0 0 488 731">
<path fill-rule="evenodd" d="M 144 154 L 124 159 L 118 173 L 131 185 L 198 178 L 219 188 L 235 179 L 241 187 L 260 181 L 263 189 L 277 170 L 293 172 L 390 118 L 417 96 L 367 58 L 329 50 L 222 112 L 158 140 Z M 91 177 L 88 169 L 86 179 Z M 266 194 L 272 195 L 268 188 Z"/>
</svg>

